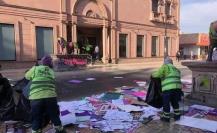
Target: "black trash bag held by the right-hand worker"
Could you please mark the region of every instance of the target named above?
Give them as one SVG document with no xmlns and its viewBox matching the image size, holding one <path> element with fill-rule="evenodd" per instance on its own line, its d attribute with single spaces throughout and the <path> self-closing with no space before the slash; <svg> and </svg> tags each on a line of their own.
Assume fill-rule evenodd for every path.
<svg viewBox="0 0 217 133">
<path fill-rule="evenodd" d="M 163 106 L 160 78 L 151 78 L 145 102 L 155 108 Z"/>
</svg>

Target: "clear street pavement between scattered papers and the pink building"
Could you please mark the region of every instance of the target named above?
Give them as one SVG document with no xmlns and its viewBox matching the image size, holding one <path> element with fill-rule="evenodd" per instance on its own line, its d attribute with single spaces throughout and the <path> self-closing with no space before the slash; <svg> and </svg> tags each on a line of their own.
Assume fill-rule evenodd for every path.
<svg viewBox="0 0 217 133">
<path fill-rule="evenodd" d="M 191 78 L 191 71 L 175 62 L 183 78 Z M 149 81 L 151 73 L 162 65 L 161 61 L 132 64 L 109 64 L 93 65 L 83 70 L 74 70 L 66 72 L 56 72 L 56 85 L 58 99 L 60 101 L 73 100 L 113 90 L 121 86 L 137 86 L 134 82 Z M 9 69 L 1 73 L 17 81 L 22 79 L 27 69 Z M 116 78 L 115 78 L 116 77 Z M 95 78 L 88 81 L 87 78 Z M 69 83 L 70 80 L 79 80 L 81 83 Z"/>
</svg>

